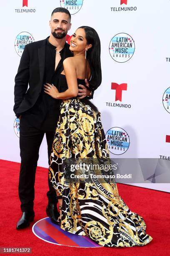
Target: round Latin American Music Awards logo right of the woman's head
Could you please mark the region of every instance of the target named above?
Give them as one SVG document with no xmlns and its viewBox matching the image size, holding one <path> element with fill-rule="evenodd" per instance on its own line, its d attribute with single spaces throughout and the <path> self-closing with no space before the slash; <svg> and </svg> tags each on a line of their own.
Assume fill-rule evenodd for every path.
<svg viewBox="0 0 170 256">
<path fill-rule="evenodd" d="M 119 33 L 113 36 L 109 45 L 109 52 L 112 59 L 117 62 L 130 60 L 135 51 L 133 38 L 126 33 Z"/>
</svg>

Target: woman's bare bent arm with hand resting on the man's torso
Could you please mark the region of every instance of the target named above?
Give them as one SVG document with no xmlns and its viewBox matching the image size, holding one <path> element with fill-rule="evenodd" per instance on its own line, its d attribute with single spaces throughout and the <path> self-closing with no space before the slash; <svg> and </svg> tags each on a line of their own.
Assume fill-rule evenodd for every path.
<svg viewBox="0 0 170 256">
<path fill-rule="evenodd" d="M 72 57 L 63 61 L 63 67 L 68 89 L 65 92 L 58 92 L 55 86 L 51 86 L 50 84 L 45 86 L 45 93 L 58 100 L 70 99 L 72 97 L 76 97 L 78 94 L 77 74 Z M 48 87 L 50 87 L 50 89 Z"/>
</svg>

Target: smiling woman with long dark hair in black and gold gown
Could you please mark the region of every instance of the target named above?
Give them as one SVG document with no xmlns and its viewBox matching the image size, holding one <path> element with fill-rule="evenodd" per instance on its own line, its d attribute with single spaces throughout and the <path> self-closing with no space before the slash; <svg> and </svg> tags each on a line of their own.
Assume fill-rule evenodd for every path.
<svg viewBox="0 0 170 256">
<path fill-rule="evenodd" d="M 90 79 L 100 86 L 100 39 L 88 26 L 78 28 L 70 40 L 74 56 L 63 62 L 62 92 L 51 84 L 45 92 L 62 99 L 60 119 L 50 157 L 49 177 L 59 199 L 60 227 L 70 233 L 89 236 L 101 246 L 143 246 L 153 238 L 145 233 L 143 218 L 131 212 L 117 191 L 116 183 L 65 179 L 65 159 L 109 159 L 107 142 L 97 108 L 77 97 L 77 84 Z"/>
</svg>

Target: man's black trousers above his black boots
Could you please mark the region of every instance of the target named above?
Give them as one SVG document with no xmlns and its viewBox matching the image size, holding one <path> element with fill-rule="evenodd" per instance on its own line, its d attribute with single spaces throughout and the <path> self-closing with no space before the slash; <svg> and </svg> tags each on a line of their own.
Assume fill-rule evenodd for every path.
<svg viewBox="0 0 170 256">
<path fill-rule="evenodd" d="M 55 130 L 55 129 L 54 129 Z M 55 131 L 41 131 L 28 122 L 25 116 L 20 118 L 20 178 L 19 178 L 19 197 L 21 201 L 21 210 L 32 211 L 33 201 L 35 197 L 35 172 L 37 167 L 37 161 L 39 157 L 39 148 L 42 143 L 42 139 L 46 135 L 48 146 L 48 159 L 51 154 L 52 142 L 54 139 Z M 48 173 L 47 173 L 48 175 Z M 42 184 L 43 187 L 43 184 Z M 48 177 L 47 197 L 50 202 L 56 202 L 56 192 L 52 187 L 52 182 Z"/>
</svg>

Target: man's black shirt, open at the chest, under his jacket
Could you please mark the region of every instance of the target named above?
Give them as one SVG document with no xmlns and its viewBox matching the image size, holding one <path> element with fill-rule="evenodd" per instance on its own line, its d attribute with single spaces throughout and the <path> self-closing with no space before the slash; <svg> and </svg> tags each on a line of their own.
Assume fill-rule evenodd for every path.
<svg viewBox="0 0 170 256">
<path fill-rule="evenodd" d="M 58 87 L 58 78 L 62 70 L 60 68 L 56 68 L 55 70 L 55 49 L 56 46 L 50 44 L 47 38 L 45 49 L 45 72 L 42 90 L 35 105 L 23 113 L 29 123 L 32 123 L 34 127 L 39 128 L 42 131 L 54 131 L 60 114 L 61 100 L 56 100 L 50 95 L 47 95 L 43 89 L 46 82 Z M 60 51 L 61 59 L 58 66 L 63 62 L 64 51 L 65 47 Z"/>
</svg>

